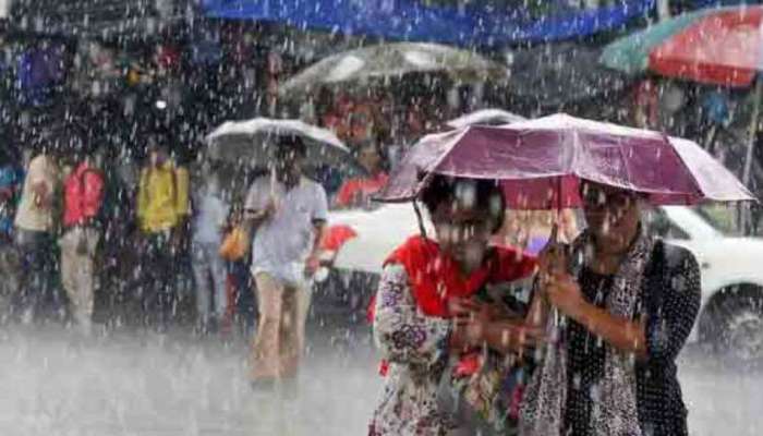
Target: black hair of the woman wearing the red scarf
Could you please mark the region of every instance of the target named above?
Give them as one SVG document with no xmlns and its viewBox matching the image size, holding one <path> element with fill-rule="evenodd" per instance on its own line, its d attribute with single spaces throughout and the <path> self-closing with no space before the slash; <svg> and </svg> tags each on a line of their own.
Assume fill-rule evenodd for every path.
<svg viewBox="0 0 763 436">
<path fill-rule="evenodd" d="M 422 190 L 419 198 L 429 211 L 429 215 L 432 215 L 444 203 L 451 203 L 455 207 L 460 207 L 460 203 L 464 202 L 463 197 L 465 197 L 464 192 L 467 190 L 473 190 L 474 199 L 464 206 L 488 210 L 495 219 L 492 232 L 498 232 L 504 227 L 506 197 L 504 196 L 504 190 L 495 180 L 450 178 L 434 174 L 429 183 Z"/>
</svg>

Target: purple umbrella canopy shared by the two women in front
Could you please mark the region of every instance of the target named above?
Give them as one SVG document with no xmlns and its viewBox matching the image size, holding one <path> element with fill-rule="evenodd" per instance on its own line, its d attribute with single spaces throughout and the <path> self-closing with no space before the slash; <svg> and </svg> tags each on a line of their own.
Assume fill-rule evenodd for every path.
<svg viewBox="0 0 763 436">
<path fill-rule="evenodd" d="M 755 201 L 691 141 L 564 113 L 425 136 L 378 199 L 411 201 L 434 173 L 500 180 L 514 209 L 579 207 L 580 180 L 643 193 L 654 205 Z"/>
</svg>

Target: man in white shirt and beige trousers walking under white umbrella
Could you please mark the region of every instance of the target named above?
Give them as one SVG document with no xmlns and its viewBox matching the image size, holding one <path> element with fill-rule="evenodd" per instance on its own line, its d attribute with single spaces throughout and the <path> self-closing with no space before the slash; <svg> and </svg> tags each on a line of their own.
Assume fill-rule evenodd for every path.
<svg viewBox="0 0 763 436">
<path fill-rule="evenodd" d="M 318 242 L 328 215 L 326 192 L 302 173 L 298 136 L 278 140 L 271 175 L 254 181 L 244 209 L 254 229 L 252 275 L 259 325 L 252 343 L 253 386 L 294 379 L 310 306 L 306 282 L 318 268 Z"/>
</svg>

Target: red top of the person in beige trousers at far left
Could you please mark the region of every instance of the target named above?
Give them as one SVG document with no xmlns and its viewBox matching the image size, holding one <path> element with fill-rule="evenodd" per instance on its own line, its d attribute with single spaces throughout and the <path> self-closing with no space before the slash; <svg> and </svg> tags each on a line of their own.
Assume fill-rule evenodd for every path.
<svg viewBox="0 0 763 436">
<path fill-rule="evenodd" d="M 104 175 L 82 162 L 63 184 L 63 226 L 73 227 L 96 218 L 104 202 Z"/>
</svg>

